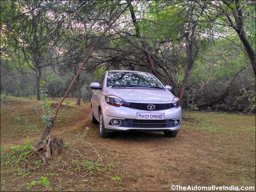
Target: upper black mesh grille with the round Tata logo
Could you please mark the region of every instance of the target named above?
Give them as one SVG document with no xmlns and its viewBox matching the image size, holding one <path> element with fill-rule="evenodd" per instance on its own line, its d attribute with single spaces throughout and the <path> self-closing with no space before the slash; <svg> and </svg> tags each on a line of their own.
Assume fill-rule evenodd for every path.
<svg viewBox="0 0 256 192">
<path fill-rule="evenodd" d="M 174 107 L 172 103 L 161 103 L 161 104 L 154 104 L 155 109 L 150 110 L 147 108 L 147 106 L 151 103 L 131 103 L 131 102 L 125 102 L 122 106 L 123 107 L 128 107 L 132 109 L 139 109 L 139 110 L 144 110 L 144 111 L 159 111 L 159 110 L 166 110 L 166 109 L 171 109 Z"/>
</svg>

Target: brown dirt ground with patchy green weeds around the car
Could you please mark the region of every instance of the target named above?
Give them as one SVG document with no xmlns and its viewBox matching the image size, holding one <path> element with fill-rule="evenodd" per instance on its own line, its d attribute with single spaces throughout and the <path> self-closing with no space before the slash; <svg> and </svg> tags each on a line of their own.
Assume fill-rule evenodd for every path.
<svg viewBox="0 0 256 192">
<path fill-rule="evenodd" d="M 103 139 L 98 136 L 98 125 L 90 123 L 90 104 L 75 106 L 75 99 L 69 100 L 71 104 L 63 104 L 52 130 L 64 140 L 64 158 L 46 165 L 33 155 L 23 158 L 21 152 L 10 151 L 11 146 L 28 139 L 39 140 L 35 127 L 24 121 L 38 121 L 30 108 L 37 101 L 9 99 L 1 104 L 1 145 L 5 148 L 1 152 L 1 191 L 255 187 L 255 115 L 190 112 L 175 138 L 165 137 L 163 132 L 117 132 Z M 42 176 L 50 185 L 35 184 L 27 189 L 28 183 Z"/>
</svg>

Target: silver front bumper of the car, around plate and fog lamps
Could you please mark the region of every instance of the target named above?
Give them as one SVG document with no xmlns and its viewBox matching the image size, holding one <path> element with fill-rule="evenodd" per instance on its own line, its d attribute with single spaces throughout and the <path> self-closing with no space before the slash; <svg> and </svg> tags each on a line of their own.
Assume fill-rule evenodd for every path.
<svg viewBox="0 0 256 192">
<path fill-rule="evenodd" d="M 150 113 L 164 113 L 164 120 L 154 120 L 155 124 L 149 124 L 151 121 L 149 120 L 145 124 L 138 124 L 136 123 L 129 123 L 135 122 L 137 113 L 149 113 L 149 111 L 138 110 L 138 109 L 131 109 L 127 107 L 115 107 L 109 104 L 105 104 L 102 107 L 102 114 L 104 120 L 104 126 L 106 129 L 117 130 L 117 131 L 130 131 L 130 130 L 138 130 L 138 131 L 176 131 L 181 128 L 182 123 L 182 113 L 181 107 L 178 108 L 171 108 L 161 111 L 150 111 Z M 111 124 L 113 119 L 121 120 L 122 124 L 119 126 L 114 126 Z M 174 126 L 171 122 L 174 120 L 179 120 L 179 125 Z M 157 122 L 159 121 L 159 123 Z M 128 122 L 128 123 L 127 123 Z M 137 122 L 137 121 L 136 121 Z M 165 122 L 161 125 L 161 122 Z M 149 124 L 147 126 L 146 124 Z M 155 127 L 154 127 L 155 125 Z"/>
</svg>

